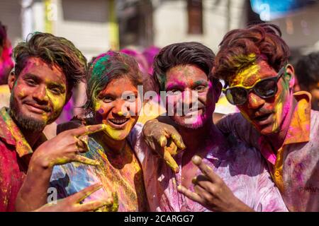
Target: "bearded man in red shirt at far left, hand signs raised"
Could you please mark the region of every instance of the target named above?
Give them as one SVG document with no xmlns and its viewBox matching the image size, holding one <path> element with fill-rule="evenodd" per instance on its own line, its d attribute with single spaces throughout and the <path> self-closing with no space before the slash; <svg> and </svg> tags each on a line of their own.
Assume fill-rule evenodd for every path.
<svg viewBox="0 0 319 226">
<path fill-rule="evenodd" d="M 18 191 L 26 173 L 34 169 L 52 170 L 54 165 L 78 161 L 96 164 L 77 155 L 86 151 L 79 136 L 99 131 L 103 126 L 66 131 L 46 141 L 42 131 L 59 117 L 72 95 L 72 87 L 86 71 L 86 59 L 72 42 L 37 32 L 14 49 L 15 70 L 9 76 L 10 107 L 0 110 L 0 211 L 14 211 Z M 33 153 L 35 150 L 35 153 Z M 29 167 L 32 165 L 32 167 Z M 42 175 L 36 175 L 38 182 Z M 101 186 L 87 188 L 75 196 L 40 210 L 93 210 L 79 202 Z M 32 189 L 32 186 L 28 187 Z M 47 196 L 34 198 L 47 199 Z M 23 200 L 23 197 L 22 197 Z M 25 206 L 28 203 L 23 203 Z M 40 206 L 38 206 L 40 207 Z"/>
</svg>

